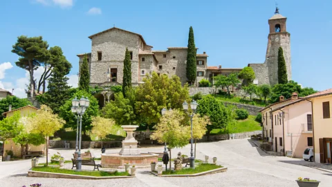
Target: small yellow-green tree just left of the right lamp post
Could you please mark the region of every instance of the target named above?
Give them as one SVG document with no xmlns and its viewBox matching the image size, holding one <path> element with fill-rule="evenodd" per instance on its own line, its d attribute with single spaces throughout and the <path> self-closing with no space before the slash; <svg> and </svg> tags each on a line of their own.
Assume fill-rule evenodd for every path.
<svg viewBox="0 0 332 187">
<path fill-rule="evenodd" d="M 159 143 L 167 143 L 169 148 L 169 158 L 172 158 L 171 150 L 174 148 L 183 148 L 189 143 L 190 127 L 184 125 L 184 114 L 178 109 L 167 111 L 160 118 L 160 122 L 155 126 L 156 131 L 151 134 L 151 139 L 157 140 Z M 169 163 L 169 170 L 172 164 Z"/>
</svg>

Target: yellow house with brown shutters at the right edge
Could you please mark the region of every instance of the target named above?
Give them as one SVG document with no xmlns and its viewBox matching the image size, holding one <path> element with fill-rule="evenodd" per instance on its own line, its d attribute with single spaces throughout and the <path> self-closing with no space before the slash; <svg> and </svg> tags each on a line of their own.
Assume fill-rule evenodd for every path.
<svg viewBox="0 0 332 187">
<path fill-rule="evenodd" d="M 305 97 L 313 109 L 313 148 L 315 162 L 331 163 L 332 155 L 332 89 Z"/>
</svg>

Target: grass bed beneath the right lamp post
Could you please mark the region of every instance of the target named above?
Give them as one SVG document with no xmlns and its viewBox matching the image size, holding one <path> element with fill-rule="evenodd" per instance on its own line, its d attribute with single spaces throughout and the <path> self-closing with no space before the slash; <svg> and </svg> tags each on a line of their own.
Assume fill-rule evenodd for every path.
<svg viewBox="0 0 332 187">
<path fill-rule="evenodd" d="M 188 175 L 188 174 L 195 174 L 195 173 L 199 173 L 199 172 L 205 172 L 208 170 L 214 170 L 217 168 L 223 168 L 223 166 L 218 166 L 218 165 L 214 165 L 211 163 L 201 163 L 199 164 L 199 166 L 196 166 L 194 169 L 192 168 L 185 168 L 182 170 L 167 170 L 167 171 L 163 171 L 163 175 Z"/>
</svg>

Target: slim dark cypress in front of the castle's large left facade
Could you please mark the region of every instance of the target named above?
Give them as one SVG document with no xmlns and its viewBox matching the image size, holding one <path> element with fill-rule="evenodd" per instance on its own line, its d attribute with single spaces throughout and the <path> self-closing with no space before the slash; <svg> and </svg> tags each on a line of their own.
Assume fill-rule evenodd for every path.
<svg viewBox="0 0 332 187">
<path fill-rule="evenodd" d="M 130 52 L 126 48 L 126 54 L 123 61 L 122 94 L 126 97 L 126 91 L 131 88 L 131 61 Z"/>
</svg>

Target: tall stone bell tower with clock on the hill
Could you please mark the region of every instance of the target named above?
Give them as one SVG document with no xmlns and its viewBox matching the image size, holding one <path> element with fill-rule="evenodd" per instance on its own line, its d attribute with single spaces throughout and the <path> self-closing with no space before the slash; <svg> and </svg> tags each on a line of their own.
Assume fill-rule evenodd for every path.
<svg viewBox="0 0 332 187">
<path fill-rule="evenodd" d="M 279 14 L 276 8 L 275 15 L 268 19 L 270 33 L 264 64 L 248 64 L 254 69 L 258 84 L 278 84 L 278 49 L 284 51 L 288 80 L 292 78 L 291 71 L 291 34 L 286 30 L 286 17 Z"/>
</svg>

